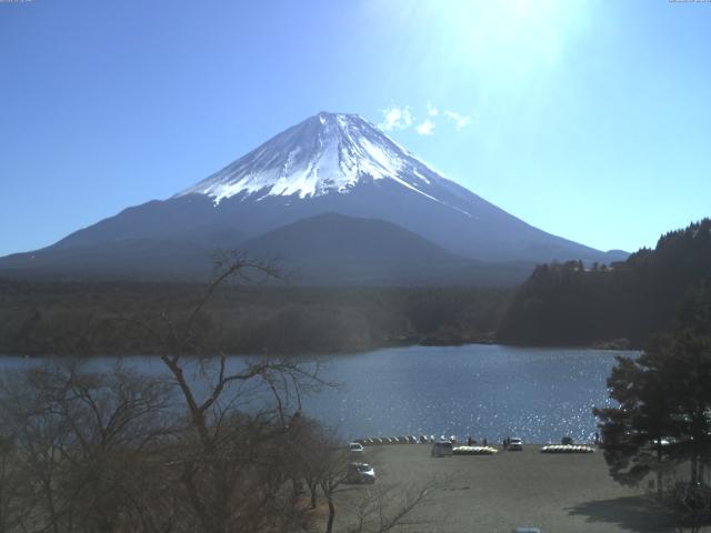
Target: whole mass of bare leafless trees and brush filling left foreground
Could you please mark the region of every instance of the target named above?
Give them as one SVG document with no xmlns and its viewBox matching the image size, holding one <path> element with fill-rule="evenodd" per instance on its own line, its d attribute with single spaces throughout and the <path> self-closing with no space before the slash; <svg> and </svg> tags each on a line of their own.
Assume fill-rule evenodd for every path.
<svg viewBox="0 0 711 533">
<path fill-rule="evenodd" d="M 278 275 L 242 255 L 218 268 L 187 318 L 122 319 L 160 346 L 161 375 L 61 360 L 4 376 L 0 533 L 312 531 L 318 497 L 333 531 L 348 450 L 301 411 L 331 383 L 316 360 L 230 359 L 208 345 L 203 309 L 219 284 Z M 358 531 L 384 532 L 427 491 L 363 494 Z M 378 507 L 375 494 L 391 503 Z"/>
</svg>

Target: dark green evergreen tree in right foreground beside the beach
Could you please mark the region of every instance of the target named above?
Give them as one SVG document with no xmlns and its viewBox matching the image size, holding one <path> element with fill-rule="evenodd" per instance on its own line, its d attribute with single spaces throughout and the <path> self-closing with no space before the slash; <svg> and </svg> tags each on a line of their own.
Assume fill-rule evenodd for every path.
<svg viewBox="0 0 711 533">
<path fill-rule="evenodd" d="M 618 356 L 608 379 L 618 408 L 595 409 L 610 474 L 637 484 L 682 462 L 691 483 L 711 457 L 711 276 L 695 285 L 671 333 L 637 359 Z"/>
</svg>

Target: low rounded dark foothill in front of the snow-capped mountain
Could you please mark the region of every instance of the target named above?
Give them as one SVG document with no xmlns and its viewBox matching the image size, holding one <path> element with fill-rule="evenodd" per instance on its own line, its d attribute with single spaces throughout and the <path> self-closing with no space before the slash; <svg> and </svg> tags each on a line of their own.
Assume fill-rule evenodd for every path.
<svg viewBox="0 0 711 533">
<path fill-rule="evenodd" d="M 240 244 L 254 258 L 278 258 L 307 285 L 513 285 L 531 263 L 458 257 L 397 224 L 324 213 Z"/>
</svg>

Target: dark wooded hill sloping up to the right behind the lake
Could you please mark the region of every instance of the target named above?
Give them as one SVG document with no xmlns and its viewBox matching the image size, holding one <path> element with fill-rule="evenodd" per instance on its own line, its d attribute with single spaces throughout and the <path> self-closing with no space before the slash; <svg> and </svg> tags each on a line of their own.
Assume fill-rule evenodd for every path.
<svg viewBox="0 0 711 533">
<path fill-rule="evenodd" d="M 525 344 L 642 346 L 667 330 L 694 283 L 711 273 L 711 220 L 661 237 L 624 262 L 537 266 L 515 294 L 499 339 Z M 617 342 L 612 342 L 617 341 Z"/>
</svg>

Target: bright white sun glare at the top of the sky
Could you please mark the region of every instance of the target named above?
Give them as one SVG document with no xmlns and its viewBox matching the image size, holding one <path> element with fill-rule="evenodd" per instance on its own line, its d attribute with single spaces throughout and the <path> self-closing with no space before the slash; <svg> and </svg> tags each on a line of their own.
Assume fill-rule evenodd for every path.
<svg viewBox="0 0 711 533">
<path fill-rule="evenodd" d="M 382 17 L 382 2 L 379 2 Z M 587 16 L 582 2 L 451 0 L 388 2 L 388 23 L 430 66 L 487 86 L 525 82 L 554 68 Z M 458 78 L 461 78 L 460 77 Z"/>
</svg>

